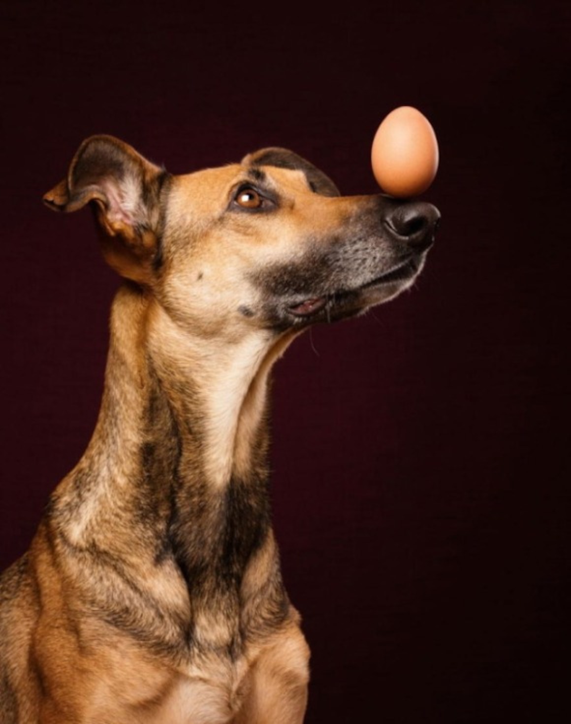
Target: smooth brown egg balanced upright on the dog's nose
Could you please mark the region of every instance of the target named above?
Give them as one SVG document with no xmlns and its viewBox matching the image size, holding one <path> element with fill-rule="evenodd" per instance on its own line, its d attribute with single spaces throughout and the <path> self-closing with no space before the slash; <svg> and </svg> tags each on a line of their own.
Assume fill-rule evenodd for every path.
<svg viewBox="0 0 571 724">
<path fill-rule="evenodd" d="M 438 141 L 420 111 L 401 106 L 384 119 L 373 139 L 371 165 L 378 185 L 397 198 L 423 193 L 436 176 Z"/>
</svg>

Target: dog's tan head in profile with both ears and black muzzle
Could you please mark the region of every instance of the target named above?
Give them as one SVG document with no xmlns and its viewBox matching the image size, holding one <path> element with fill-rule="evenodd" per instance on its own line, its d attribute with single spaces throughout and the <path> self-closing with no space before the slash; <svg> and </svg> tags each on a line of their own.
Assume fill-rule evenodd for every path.
<svg viewBox="0 0 571 724">
<path fill-rule="evenodd" d="M 173 176 L 111 136 L 85 140 L 44 201 L 92 202 L 109 264 L 207 334 L 302 328 L 389 300 L 413 284 L 439 220 L 428 203 L 343 197 L 283 148 Z"/>
</svg>

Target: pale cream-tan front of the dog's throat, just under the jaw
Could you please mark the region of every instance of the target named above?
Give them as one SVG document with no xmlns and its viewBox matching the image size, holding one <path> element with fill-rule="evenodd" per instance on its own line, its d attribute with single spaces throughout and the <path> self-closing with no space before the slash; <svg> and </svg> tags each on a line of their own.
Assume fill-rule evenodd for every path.
<svg viewBox="0 0 571 724">
<path fill-rule="evenodd" d="M 213 490 L 263 465 L 272 342 L 261 332 L 232 342 L 189 334 L 158 304 L 149 310 L 152 374 Z"/>
</svg>

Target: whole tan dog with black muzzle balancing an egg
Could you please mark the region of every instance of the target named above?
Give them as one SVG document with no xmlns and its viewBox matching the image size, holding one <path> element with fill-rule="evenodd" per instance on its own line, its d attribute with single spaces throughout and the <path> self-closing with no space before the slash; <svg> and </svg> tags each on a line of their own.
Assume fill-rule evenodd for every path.
<svg viewBox="0 0 571 724">
<path fill-rule="evenodd" d="M 1 578 L 0 721 L 300 724 L 271 367 L 311 324 L 413 285 L 439 211 L 343 197 L 283 148 L 174 176 L 106 135 L 44 201 L 92 207 L 123 283 L 93 438 Z"/>
</svg>

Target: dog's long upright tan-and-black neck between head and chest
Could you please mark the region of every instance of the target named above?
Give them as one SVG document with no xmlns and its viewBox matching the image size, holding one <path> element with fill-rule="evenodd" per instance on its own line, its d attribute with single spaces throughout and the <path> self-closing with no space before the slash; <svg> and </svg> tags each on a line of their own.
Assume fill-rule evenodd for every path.
<svg viewBox="0 0 571 724">
<path fill-rule="evenodd" d="M 241 576 L 271 535 L 268 374 L 289 341 L 193 337 L 151 295 L 123 287 L 96 430 L 54 497 L 70 541 L 97 547 L 111 519 L 119 556 L 138 536 L 156 559 L 174 552 L 187 582 L 210 563 L 226 584 Z"/>
</svg>

